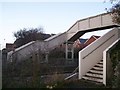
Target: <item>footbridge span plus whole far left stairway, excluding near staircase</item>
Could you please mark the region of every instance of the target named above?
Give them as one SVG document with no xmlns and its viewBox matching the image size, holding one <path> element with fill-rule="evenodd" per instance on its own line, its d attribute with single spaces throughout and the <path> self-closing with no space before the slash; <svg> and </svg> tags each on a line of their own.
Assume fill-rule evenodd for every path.
<svg viewBox="0 0 120 90">
<path fill-rule="evenodd" d="M 23 58 L 30 54 L 30 52 L 37 51 L 39 48 L 42 51 L 48 52 L 58 45 L 66 43 L 66 59 L 68 59 L 68 52 L 71 52 L 72 58 L 74 58 L 74 49 L 68 50 L 68 44 L 73 44 L 73 42 L 80 36 L 87 32 L 105 30 L 113 27 L 118 27 L 118 24 L 112 21 L 110 13 L 103 13 L 100 15 L 88 17 L 76 21 L 66 32 L 54 35 L 44 41 L 32 41 L 25 44 L 14 51 L 8 52 L 8 59 L 11 59 L 13 53 L 17 57 Z M 73 47 L 71 47 L 73 48 Z"/>
</svg>

